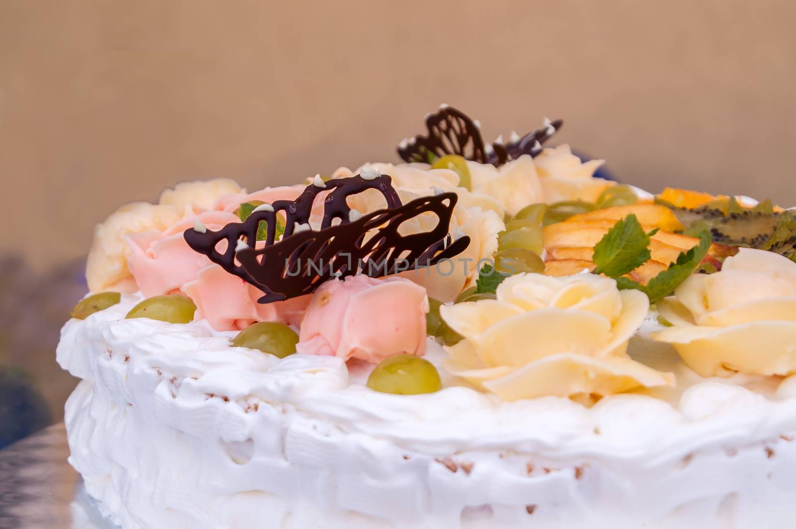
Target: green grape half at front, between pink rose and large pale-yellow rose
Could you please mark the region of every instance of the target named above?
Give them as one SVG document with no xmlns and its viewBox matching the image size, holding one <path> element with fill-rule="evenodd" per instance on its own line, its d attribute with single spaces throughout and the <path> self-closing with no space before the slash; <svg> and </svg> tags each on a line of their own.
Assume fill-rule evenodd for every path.
<svg viewBox="0 0 796 529">
<path fill-rule="evenodd" d="M 420 395 L 443 388 L 434 364 L 414 355 L 388 356 L 368 377 L 368 387 L 393 395 Z"/>
</svg>

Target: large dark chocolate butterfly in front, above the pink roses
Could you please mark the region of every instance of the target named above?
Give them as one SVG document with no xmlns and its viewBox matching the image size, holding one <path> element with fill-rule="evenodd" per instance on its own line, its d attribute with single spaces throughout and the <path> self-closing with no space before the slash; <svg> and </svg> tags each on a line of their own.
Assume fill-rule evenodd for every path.
<svg viewBox="0 0 796 529">
<path fill-rule="evenodd" d="M 296 200 L 276 200 L 274 211 L 252 212 L 242 223 L 231 223 L 219 231 L 201 233 L 185 230 L 185 241 L 193 250 L 207 255 L 230 274 L 262 290 L 260 303 L 282 301 L 312 293 L 334 277 L 358 273 L 377 278 L 419 266 L 433 266 L 458 255 L 470 244 L 466 235 L 453 240 L 448 234 L 456 193 L 423 196 L 401 204 L 392 178 L 379 175 L 365 180 L 361 175 L 325 182 L 326 187 L 308 185 Z M 349 196 L 377 189 L 387 201 L 387 208 L 349 220 Z M 323 220 L 319 231 L 296 232 L 296 225 L 308 224 L 318 193 L 330 191 L 323 202 Z M 275 241 L 276 215 L 286 217 L 282 240 Z M 431 212 L 438 222 L 431 231 L 401 235 L 404 222 Z M 339 224 L 334 224 L 339 220 Z M 267 223 L 264 246 L 256 244 L 261 222 Z M 373 231 L 369 233 L 369 231 Z M 244 240 L 248 248 L 236 251 Z"/>
</svg>

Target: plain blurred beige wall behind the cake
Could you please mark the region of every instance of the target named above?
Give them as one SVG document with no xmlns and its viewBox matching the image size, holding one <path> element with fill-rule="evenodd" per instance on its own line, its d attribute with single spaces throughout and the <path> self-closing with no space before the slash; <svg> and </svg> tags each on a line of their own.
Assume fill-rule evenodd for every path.
<svg viewBox="0 0 796 529">
<path fill-rule="evenodd" d="M 0 252 L 88 249 L 185 179 L 396 159 L 439 103 L 563 118 L 623 180 L 796 204 L 793 2 L 0 0 Z M 47 235 L 41 239 L 41 235 Z"/>
</svg>

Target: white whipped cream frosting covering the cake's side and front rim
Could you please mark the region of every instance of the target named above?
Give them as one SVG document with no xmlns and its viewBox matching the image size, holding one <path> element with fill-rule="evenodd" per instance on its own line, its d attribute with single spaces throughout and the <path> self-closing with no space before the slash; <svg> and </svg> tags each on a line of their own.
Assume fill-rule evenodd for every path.
<svg viewBox="0 0 796 529">
<path fill-rule="evenodd" d="M 629 353 L 678 386 L 588 408 L 501 402 L 442 368 L 442 391 L 380 394 L 369 364 L 234 348 L 206 321 L 123 319 L 139 299 L 68 321 L 57 349 L 83 379 L 70 462 L 125 529 L 787 527 L 796 514 L 796 383 L 702 379 L 646 339 L 654 314 Z M 443 356 L 429 341 L 426 357 Z"/>
</svg>

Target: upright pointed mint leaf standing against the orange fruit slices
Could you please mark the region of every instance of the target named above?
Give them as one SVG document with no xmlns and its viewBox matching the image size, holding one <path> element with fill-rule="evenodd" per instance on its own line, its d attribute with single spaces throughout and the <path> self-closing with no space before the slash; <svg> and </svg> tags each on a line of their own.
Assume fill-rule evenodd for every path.
<svg viewBox="0 0 796 529">
<path fill-rule="evenodd" d="M 592 261 L 597 265 L 594 274 L 606 274 L 610 278 L 618 278 L 635 270 L 645 263 L 650 253 L 650 235 L 657 228 L 646 233 L 634 214 L 619 220 L 599 243 L 595 244 Z"/>
</svg>

